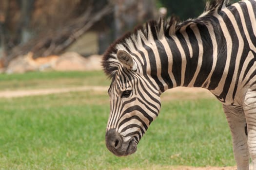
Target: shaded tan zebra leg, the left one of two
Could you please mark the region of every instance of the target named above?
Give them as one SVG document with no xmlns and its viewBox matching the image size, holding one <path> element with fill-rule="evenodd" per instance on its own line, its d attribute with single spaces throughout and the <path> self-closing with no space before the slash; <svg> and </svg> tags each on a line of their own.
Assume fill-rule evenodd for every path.
<svg viewBox="0 0 256 170">
<path fill-rule="evenodd" d="M 245 134 L 246 119 L 242 107 L 223 105 L 233 139 L 237 170 L 249 170 L 250 156 Z"/>
</svg>

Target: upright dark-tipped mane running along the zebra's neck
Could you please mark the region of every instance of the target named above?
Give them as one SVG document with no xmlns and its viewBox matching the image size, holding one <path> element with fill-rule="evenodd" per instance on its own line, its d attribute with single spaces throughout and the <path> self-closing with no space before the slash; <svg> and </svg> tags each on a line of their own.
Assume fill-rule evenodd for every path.
<svg viewBox="0 0 256 170">
<path fill-rule="evenodd" d="M 209 22 L 209 17 L 227 7 L 228 3 L 229 0 L 211 0 L 206 3 L 204 12 L 196 19 L 179 22 L 177 17 L 172 16 L 166 20 L 160 18 L 158 21 L 151 20 L 137 26 L 134 31 L 124 34 L 106 50 L 101 62 L 105 74 L 109 78 L 115 77 L 118 66 L 120 66 L 116 55 L 118 50 L 132 51 L 132 49 L 135 49 L 135 44 L 138 44 L 137 41 L 144 40 L 145 38 L 149 40 L 149 34 L 152 34 L 154 40 L 156 40 L 160 39 L 161 36 L 174 35 L 184 26 L 191 24 L 206 25 Z"/>
</svg>

